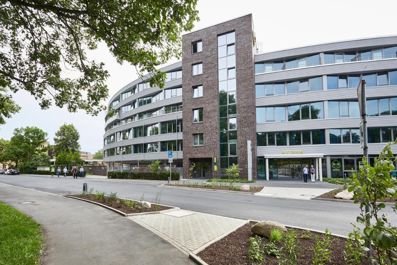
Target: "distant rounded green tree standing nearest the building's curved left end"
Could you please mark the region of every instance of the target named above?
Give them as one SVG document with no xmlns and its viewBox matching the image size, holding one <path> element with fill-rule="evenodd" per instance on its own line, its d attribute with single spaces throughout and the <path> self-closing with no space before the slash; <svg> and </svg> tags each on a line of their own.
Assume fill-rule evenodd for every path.
<svg viewBox="0 0 397 265">
<path fill-rule="evenodd" d="M 55 133 L 54 137 L 54 156 L 58 156 L 61 152 L 76 152 L 80 150 L 80 134 L 73 124 L 64 124 Z"/>
</svg>

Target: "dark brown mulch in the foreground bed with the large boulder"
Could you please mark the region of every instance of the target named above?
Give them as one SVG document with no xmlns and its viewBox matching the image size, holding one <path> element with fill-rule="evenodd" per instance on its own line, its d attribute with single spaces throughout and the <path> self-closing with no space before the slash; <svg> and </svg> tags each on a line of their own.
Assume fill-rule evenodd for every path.
<svg viewBox="0 0 397 265">
<path fill-rule="evenodd" d="M 249 261 L 249 238 L 253 236 L 251 232 L 251 226 L 254 222 L 245 224 L 235 232 L 225 236 L 221 240 L 211 244 L 204 250 L 200 251 L 197 256 L 209 265 L 253 265 L 256 262 Z M 323 234 L 312 232 L 311 237 L 308 239 L 302 239 L 301 235 L 304 233 L 301 229 L 292 228 L 297 234 L 297 240 L 301 249 L 298 251 L 300 257 L 298 258 L 297 264 L 312 265 L 312 258 L 314 252 L 312 247 L 314 246 L 314 238 L 316 235 L 320 236 L 320 239 L 324 238 Z M 269 240 L 264 239 L 263 244 L 268 244 Z M 278 249 L 281 249 L 283 242 L 276 244 Z M 346 240 L 344 238 L 332 237 L 332 247 L 330 258 L 331 262 L 327 264 L 342 265 L 346 264 L 344 260 L 343 250 L 346 246 Z M 280 251 L 282 252 L 282 251 Z M 285 253 L 286 254 L 286 253 Z M 266 254 L 265 254 L 266 255 Z M 263 264 L 279 264 L 280 259 L 274 256 L 265 256 Z"/>
</svg>

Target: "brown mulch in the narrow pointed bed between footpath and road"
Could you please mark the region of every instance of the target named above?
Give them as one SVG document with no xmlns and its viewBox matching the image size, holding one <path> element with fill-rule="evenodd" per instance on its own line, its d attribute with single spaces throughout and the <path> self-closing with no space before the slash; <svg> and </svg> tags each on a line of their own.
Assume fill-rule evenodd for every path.
<svg viewBox="0 0 397 265">
<path fill-rule="evenodd" d="M 171 207 L 166 207 L 166 206 L 161 206 L 161 205 L 159 205 L 158 209 L 155 209 L 154 208 L 155 204 L 152 203 L 152 207 L 151 208 L 145 208 L 145 209 L 142 209 L 142 210 L 136 208 L 135 210 L 133 210 L 133 209 L 131 209 L 131 207 L 128 207 L 127 205 L 125 205 L 125 201 L 126 200 L 124 200 L 124 199 L 116 198 L 113 202 L 111 202 L 111 201 L 108 200 L 108 196 L 105 196 L 104 200 L 97 200 L 97 199 L 91 198 L 91 196 L 94 196 L 94 194 L 93 195 L 89 195 L 89 194 L 86 194 L 86 195 L 72 194 L 72 195 L 68 195 L 68 196 L 77 197 L 77 198 L 81 198 L 81 199 L 85 199 L 85 200 L 89 200 L 89 201 L 94 201 L 96 203 L 101 203 L 103 205 L 106 205 L 108 207 L 112 207 L 112 208 L 114 208 L 116 210 L 119 210 L 121 212 L 124 212 L 126 214 L 138 213 L 138 212 L 158 212 L 158 211 L 162 211 L 162 210 L 171 209 Z M 120 201 L 121 204 L 118 206 L 116 201 Z"/>
</svg>

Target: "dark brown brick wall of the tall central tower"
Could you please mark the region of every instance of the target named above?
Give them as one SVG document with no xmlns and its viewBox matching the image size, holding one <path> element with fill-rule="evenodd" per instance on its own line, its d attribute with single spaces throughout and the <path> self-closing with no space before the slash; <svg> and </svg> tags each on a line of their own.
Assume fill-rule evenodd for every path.
<svg viewBox="0 0 397 265">
<path fill-rule="evenodd" d="M 183 175 L 192 162 L 211 158 L 212 177 L 220 175 L 218 107 L 218 39 L 229 31 L 236 34 L 237 142 L 240 177 L 248 178 L 247 140 L 252 141 L 253 177 L 256 178 L 256 119 L 252 15 L 236 18 L 182 36 Z M 202 40 L 202 52 L 191 53 L 191 43 Z M 192 64 L 202 62 L 203 73 L 192 76 Z M 192 86 L 202 85 L 203 96 L 192 98 Z M 203 108 L 203 122 L 192 122 L 192 109 Z M 193 146 L 193 134 L 204 134 L 204 145 Z M 213 158 L 217 158 L 214 163 Z M 204 160 L 203 160 L 204 161 Z M 205 160 L 209 161 L 209 160 Z M 214 171 L 214 166 L 218 171 Z"/>
</svg>

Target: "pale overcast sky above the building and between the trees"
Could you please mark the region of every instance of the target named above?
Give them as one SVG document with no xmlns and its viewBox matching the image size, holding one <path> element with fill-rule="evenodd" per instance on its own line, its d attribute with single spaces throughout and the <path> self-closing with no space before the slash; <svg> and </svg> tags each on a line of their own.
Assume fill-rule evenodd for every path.
<svg viewBox="0 0 397 265">
<path fill-rule="evenodd" d="M 256 40 L 263 43 L 264 52 L 330 41 L 397 35 L 395 0 L 198 0 L 197 10 L 200 21 L 195 22 L 193 30 L 252 13 Z M 98 45 L 98 49 L 88 51 L 87 55 L 104 62 L 110 74 L 106 80 L 109 89 L 106 103 L 119 89 L 138 77 L 134 66 L 118 64 L 103 43 Z M 170 60 L 170 63 L 176 61 Z M 17 127 L 36 126 L 48 133 L 48 140 L 53 144 L 56 131 L 67 123 L 79 131 L 81 150 L 93 154 L 102 148 L 105 113 L 99 113 L 97 117 L 85 111 L 69 113 L 54 104 L 50 109 L 42 110 L 25 91 L 17 92 L 13 99 L 22 109 L 6 119 L 6 125 L 0 126 L 0 138 L 10 139 Z"/>
</svg>

